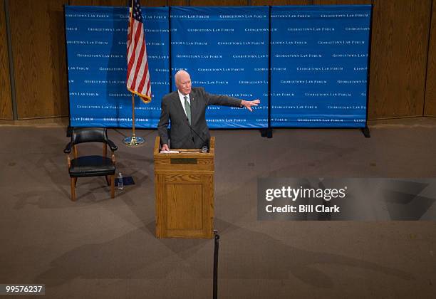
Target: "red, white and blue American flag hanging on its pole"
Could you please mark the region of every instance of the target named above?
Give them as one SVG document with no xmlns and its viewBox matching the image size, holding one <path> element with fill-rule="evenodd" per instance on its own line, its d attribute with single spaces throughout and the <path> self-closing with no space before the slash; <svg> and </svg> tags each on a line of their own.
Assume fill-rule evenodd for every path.
<svg viewBox="0 0 436 299">
<path fill-rule="evenodd" d="M 147 50 L 145 48 L 144 23 L 139 0 L 132 0 L 128 28 L 128 75 L 127 88 L 139 95 L 142 101 L 150 103 L 151 86 L 148 71 Z"/>
</svg>

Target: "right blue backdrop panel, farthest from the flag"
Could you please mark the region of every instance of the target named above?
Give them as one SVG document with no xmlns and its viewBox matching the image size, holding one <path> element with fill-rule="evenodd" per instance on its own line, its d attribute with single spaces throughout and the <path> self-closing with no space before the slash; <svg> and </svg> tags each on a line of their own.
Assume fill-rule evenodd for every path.
<svg viewBox="0 0 436 299">
<path fill-rule="evenodd" d="M 370 12 L 271 8 L 271 127 L 365 127 Z"/>
</svg>

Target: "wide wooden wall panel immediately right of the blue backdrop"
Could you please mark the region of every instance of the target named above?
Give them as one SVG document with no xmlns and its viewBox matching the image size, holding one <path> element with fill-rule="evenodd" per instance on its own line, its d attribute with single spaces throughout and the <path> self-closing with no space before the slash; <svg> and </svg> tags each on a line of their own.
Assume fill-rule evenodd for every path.
<svg viewBox="0 0 436 299">
<path fill-rule="evenodd" d="M 374 0 L 370 119 L 422 116 L 431 0 Z"/>
</svg>

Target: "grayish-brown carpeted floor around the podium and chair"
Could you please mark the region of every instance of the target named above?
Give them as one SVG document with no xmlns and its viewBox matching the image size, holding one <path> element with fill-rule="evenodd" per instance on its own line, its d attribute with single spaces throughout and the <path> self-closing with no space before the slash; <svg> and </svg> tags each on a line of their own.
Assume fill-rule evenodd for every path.
<svg viewBox="0 0 436 299">
<path fill-rule="evenodd" d="M 258 177 L 436 177 L 435 118 L 370 129 L 212 130 L 219 298 L 435 298 L 435 221 L 256 220 Z M 213 241 L 154 236 L 156 132 L 138 131 L 136 149 L 121 145 L 129 130 L 109 135 L 136 184 L 110 199 L 104 179 L 78 179 L 72 202 L 65 128 L 0 127 L 0 283 L 44 283 L 47 298 L 212 298 Z"/>
</svg>

